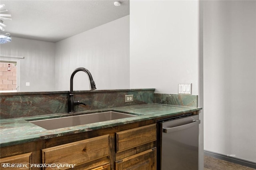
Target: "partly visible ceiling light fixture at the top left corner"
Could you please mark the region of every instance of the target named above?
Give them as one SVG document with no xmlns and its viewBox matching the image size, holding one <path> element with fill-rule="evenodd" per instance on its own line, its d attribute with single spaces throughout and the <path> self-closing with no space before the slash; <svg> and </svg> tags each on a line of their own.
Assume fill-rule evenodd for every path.
<svg viewBox="0 0 256 170">
<path fill-rule="evenodd" d="M 0 9 L 4 7 L 4 4 L 0 4 Z M 7 10 L 0 10 L 0 13 L 7 12 Z M 4 28 L 6 25 L 3 24 L 3 20 L 12 20 L 10 14 L 0 14 L 0 43 L 8 43 L 11 42 L 12 38 L 10 36 L 10 33 L 4 32 Z"/>
</svg>

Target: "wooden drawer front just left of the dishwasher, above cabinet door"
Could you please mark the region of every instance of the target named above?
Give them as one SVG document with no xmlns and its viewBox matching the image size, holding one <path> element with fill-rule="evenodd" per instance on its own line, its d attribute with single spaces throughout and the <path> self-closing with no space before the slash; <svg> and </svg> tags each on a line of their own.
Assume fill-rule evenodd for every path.
<svg viewBox="0 0 256 170">
<path fill-rule="evenodd" d="M 156 140 L 156 124 L 116 132 L 116 152 Z"/>
</svg>

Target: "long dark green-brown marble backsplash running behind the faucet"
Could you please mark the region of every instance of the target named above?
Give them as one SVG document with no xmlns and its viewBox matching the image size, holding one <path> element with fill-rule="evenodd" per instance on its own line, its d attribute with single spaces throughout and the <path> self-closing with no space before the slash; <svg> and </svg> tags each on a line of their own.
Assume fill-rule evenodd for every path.
<svg viewBox="0 0 256 170">
<path fill-rule="evenodd" d="M 74 100 L 86 103 L 75 111 L 104 109 L 154 103 L 155 89 L 74 91 Z M 0 119 L 65 113 L 68 111 L 68 91 L 1 93 Z M 124 103 L 124 95 L 134 95 L 134 101 Z"/>
</svg>

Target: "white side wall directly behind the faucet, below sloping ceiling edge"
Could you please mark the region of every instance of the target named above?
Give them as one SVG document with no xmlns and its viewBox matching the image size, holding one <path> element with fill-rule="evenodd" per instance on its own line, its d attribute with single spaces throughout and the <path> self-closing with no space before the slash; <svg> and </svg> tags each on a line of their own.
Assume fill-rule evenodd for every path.
<svg viewBox="0 0 256 170">
<path fill-rule="evenodd" d="M 56 43 L 56 90 L 70 88 L 74 69 L 90 71 L 97 89 L 129 89 L 129 16 Z M 88 90 L 86 73 L 74 76 L 74 90 Z"/>
</svg>

